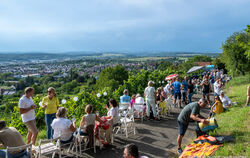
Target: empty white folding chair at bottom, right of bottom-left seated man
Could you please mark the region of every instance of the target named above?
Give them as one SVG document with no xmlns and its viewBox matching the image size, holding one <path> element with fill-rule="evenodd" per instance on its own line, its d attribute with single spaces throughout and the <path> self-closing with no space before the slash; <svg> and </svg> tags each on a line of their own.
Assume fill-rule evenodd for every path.
<svg viewBox="0 0 250 158">
<path fill-rule="evenodd" d="M 62 157 L 61 154 L 61 143 L 60 137 L 50 140 L 40 140 L 39 145 L 34 147 L 36 151 L 36 157 L 41 158 L 42 156 L 48 156 L 52 154 L 52 158 L 55 157 L 55 154 L 59 154 L 59 158 Z"/>
</svg>

